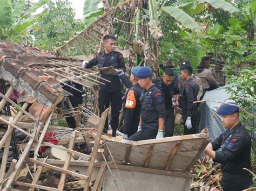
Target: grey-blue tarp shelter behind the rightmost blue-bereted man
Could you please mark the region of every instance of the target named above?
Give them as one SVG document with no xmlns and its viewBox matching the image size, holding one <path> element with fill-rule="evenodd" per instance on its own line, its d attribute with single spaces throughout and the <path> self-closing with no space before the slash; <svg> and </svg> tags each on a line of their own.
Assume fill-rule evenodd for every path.
<svg viewBox="0 0 256 191">
<path fill-rule="evenodd" d="M 227 85 L 232 86 L 232 85 Z M 220 101 L 223 102 L 226 100 L 226 98 L 230 97 L 231 94 L 227 93 L 226 87 L 221 87 L 218 89 L 214 89 L 211 91 L 207 91 L 205 93 L 205 96 L 203 100 L 213 100 L 213 101 Z M 226 102 L 231 101 L 227 100 Z M 212 118 L 212 115 L 214 112 L 218 109 L 221 103 L 217 102 L 202 102 L 199 105 L 199 116 L 200 116 L 200 122 L 198 125 L 197 132 L 200 132 L 205 127 L 208 128 L 208 131 L 210 133 L 211 141 L 215 140 L 221 133 L 223 133 L 226 129 L 223 128 L 221 124 L 221 119 L 218 114 Z"/>
</svg>

